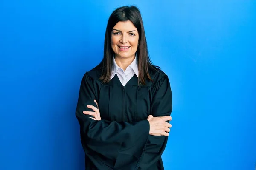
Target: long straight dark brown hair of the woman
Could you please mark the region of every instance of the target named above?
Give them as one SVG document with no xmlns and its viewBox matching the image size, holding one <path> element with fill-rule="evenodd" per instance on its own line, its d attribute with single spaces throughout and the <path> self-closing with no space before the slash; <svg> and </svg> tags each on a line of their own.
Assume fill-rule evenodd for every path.
<svg viewBox="0 0 256 170">
<path fill-rule="evenodd" d="M 127 20 L 130 20 L 134 24 L 139 33 L 139 46 L 136 51 L 139 69 L 138 83 L 140 85 L 145 85 L 146 79 L 153 81 L 149 75 L 148 69 L 157 69 L 159 67 L 152 64 L 148 55 L 148 46 L 143 21 L 140 11 L 136 6 L 119 7 L 110 15 L 105 33 L 104 57 L 99 65 L 97 65 L 94 69 L 102 69 L 100 80 L 102 80 L 103 83 L 108 83 L 110 81 L 113 57 L 115 54 L 111 48 L 111 32 L 116 23 Z"/>
</svg>

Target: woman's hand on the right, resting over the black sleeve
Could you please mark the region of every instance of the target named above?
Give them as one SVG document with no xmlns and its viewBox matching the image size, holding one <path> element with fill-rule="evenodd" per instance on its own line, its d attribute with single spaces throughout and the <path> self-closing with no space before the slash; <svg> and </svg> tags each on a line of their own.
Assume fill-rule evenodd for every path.
<svg viewBox="0 0 256 170">
<path fill-rule="evenodd" d="M 170 127 L 172 125 L 167 123 L 167 120 L 172 120 L 171 116 L 153 117 L 149 115 L 147 118 L 150 128 L 149 134 L 153 136 L 169 136 Z"/>
</svg>

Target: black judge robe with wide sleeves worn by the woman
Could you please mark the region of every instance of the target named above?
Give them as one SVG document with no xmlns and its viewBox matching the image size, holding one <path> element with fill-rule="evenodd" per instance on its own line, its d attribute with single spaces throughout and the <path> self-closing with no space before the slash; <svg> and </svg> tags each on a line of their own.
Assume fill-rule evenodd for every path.
<svg viewBox="0 0 256 170">
<path fill-rule="evenodd" d="M 102 84 L 100 74 L 95 69 L 84 74 L 76 108 L 86 170 L 163 170 L 161 155 L 168 137 L 149 135 L 147 117 L 171 114 L 168 76 L 160 69 L 150 69 L 153 82 L 139 86 L 134 74 L 123 86 L 117 75 Z M 83 114 L 93 111 L 87 105 L 97 108 L 94 99 L 100 121 Z"/>
</svg>

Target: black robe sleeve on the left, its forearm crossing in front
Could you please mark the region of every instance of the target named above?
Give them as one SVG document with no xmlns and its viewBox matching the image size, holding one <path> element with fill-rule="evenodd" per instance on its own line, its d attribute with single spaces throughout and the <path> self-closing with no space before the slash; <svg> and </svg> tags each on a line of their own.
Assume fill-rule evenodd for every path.
<svg viewBox="0 0 256 170">
<path fill-rule="evenodd" d="M 93 111 L 87 105 L 94 105 L 97 96 L 97 84 L 86 73 L 81 81 L 79 99 L 76 108 L 76 118 L 80 124 L 81 143 L 87 156 L 104 161 L 109 167 L 115 166 L 115 161 L 120 152 L 133 155 L 139 161 L 145 150 L 149 134 L 149 122 L 116 122 L 108 120 L 93 120 L 83 111 Z M 93 111 L 94 112 L 94 111 Z M 134 160 L 121 161 L 118 167 L 134 164 Z M 117 165 L 116 165 L 117 166 Z M 136 165 L 135 165 L 136 166 Z"/>
</svg>

